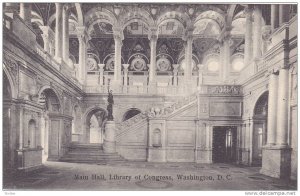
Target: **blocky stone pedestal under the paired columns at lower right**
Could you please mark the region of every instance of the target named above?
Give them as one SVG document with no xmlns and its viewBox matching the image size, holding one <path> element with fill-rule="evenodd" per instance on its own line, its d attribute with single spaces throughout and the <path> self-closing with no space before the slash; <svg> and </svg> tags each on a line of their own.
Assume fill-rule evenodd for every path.
<svg viewBox="0 0 300 196">
<path fill-rule="evenodd" d="M 262 150 L 260 173 L 274 178 L 289 178 L 291 173 L 291 148 L 265 146 Z"/>
</svg>

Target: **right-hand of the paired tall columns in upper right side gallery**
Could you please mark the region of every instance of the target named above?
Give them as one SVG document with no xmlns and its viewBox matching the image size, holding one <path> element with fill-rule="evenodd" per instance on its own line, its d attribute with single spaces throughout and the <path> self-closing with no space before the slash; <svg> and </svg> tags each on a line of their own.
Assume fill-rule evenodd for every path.
<svg viewBox="0 0 300 196">
<path fill-rule="evenodd" d="M 262 14 L 258 6 L 254 7 L 253 18 L 253 58 L 256 59 L 261 56 L 262 47 Z"/>
</svg>

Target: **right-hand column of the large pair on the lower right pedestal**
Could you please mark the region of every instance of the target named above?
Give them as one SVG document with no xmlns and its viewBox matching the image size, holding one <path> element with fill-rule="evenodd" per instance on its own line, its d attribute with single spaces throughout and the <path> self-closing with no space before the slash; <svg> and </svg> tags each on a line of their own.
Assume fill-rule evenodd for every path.
<svg viewBox="0 0 300 196">
<path fill-rule="evenodd" d="M 288 142 L 289 70 L 282 68 L 278 76 L 278 108 L 276 144 L 286 146 Z"/>
</svg>

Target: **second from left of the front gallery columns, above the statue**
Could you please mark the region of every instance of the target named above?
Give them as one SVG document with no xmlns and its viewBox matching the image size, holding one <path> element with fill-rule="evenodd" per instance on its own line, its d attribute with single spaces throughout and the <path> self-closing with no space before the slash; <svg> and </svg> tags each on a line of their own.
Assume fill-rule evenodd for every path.
<svg viewBox="0 0 300 196">
<path fill-rule="evenodd" d="M 121 85 L 121 59 L 122 59 L 122 40 L 123 32 L 122 29 L 114 29 L 114 40 L 115 40 L 115 65 L 114 65 L 114 81 L 115 87 Z"/>
</svg>

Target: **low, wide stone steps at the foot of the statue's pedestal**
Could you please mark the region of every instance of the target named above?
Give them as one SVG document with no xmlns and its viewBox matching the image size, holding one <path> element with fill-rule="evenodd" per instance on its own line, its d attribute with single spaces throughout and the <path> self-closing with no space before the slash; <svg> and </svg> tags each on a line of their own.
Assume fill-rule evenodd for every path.
<svg viewBox="0 0 300 196">
<path fill-rule="evenodd" d="M 118 153 L 104 153 L 101 144 L 71 143 L 69 151 L 60 161 L 72 163 L 108 163 L 123 162 Z"/>
</svg>

